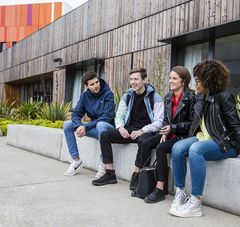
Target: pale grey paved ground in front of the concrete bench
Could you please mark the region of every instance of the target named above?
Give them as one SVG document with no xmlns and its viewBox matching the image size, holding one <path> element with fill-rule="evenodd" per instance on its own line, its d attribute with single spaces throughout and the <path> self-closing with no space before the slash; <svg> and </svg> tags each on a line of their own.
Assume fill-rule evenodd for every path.
<svg viewBox="0 0 240 227">
<path fill-rule="evenodd" d="M 157 204 L 130 197 L 128 183 L 94 187 L 95 173 L 65 177 L 68 165 L 6 145 L 0 137 L 0 226 L 237 227 L 240 217 L 204 206 L 201 218 L 168 214 L 172 196 Z"/>
</svg>

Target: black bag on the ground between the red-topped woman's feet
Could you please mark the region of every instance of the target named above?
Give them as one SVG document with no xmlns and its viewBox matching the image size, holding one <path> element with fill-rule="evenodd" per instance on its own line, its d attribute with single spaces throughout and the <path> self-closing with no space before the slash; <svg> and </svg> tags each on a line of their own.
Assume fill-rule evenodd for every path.
<svg viewBox="0 0 240 227">
<path fill-rule="evenodd" d="M 154 162 L 156 163 L 156 161 Z M 144 199 L 156 186 L 156 166 L 147 166 L 140 169 L 138 174 L 138 184 L 136 196 Z"/>
</svg>

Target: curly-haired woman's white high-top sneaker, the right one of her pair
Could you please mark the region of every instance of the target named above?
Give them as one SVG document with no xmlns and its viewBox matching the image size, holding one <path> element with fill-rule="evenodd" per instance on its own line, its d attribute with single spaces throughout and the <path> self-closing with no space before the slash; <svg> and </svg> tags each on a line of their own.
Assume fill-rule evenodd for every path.
<svg viewBox="0 0 240 227">
<path fill-rule="evenodd" d="M 180 206 L 173 215 L 177 217 L 200 217 L 202 216 L 201 209 L 202 199 L 198 199 L 194 195 L 191 195 L 187 203 Z"/>
</svg>

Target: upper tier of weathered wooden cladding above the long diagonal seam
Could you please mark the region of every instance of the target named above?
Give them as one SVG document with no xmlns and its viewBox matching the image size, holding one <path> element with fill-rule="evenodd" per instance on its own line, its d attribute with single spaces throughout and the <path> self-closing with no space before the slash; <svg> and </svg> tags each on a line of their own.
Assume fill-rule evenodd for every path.
<svg viewBox="0 0 240 227">
<path fill-rule="evenodd" d="M 10 54 L 16 59 L 3 64 L 3 67 L 0 65 L 0 71 L 184 2 L 189 0 L 173 0 L 168 3 L 159 3 L 158 0 L 90 0 L 18 43 Z M 26 53 L 19 55 L 21 50 Z M 0 61 L 6 59 L 2 54 Z"/>
</svg>

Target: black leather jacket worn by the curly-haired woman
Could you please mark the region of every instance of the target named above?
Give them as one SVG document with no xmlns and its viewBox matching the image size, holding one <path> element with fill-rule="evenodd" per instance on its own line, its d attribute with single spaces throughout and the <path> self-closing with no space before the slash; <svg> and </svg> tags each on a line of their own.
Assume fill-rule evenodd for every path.
<svg viewBox="0 0 240 227">
<path fill-rule="evenodd" d="M 189 136 L 199 132 L 204 114 L 205 126 L 211 138 L 225 151 L 233 147 L 240 151 L 240 120 L 233 95 L 227 91 L 213 96 L 199 94 L 194 111 Z"/>
</svg>

